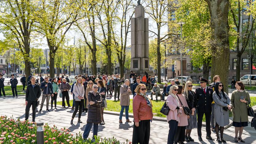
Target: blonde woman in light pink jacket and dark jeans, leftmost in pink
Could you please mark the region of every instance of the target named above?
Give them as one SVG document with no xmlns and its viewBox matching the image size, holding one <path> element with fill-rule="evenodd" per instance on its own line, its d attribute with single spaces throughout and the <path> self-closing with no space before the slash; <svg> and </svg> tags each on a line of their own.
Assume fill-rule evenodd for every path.
<svg viewBox="0 0 256 144">
<path fill-rule="evenodd" d="M 182 114 L 182 106 L 179 104 L 179 100 L 177 97 L 178 86 L 173 85 L 170 87 L 169 95 L 166 99 L 166 104 L 169 106 L 170 111 L 166 116 L 167 122 L 169 123 L 169 134 L 167 144 L 173 144 L 174 135 L 177 131 L 179 117 Z M 184 134 L 185 135 L 185 134 Z"/>
</svg>

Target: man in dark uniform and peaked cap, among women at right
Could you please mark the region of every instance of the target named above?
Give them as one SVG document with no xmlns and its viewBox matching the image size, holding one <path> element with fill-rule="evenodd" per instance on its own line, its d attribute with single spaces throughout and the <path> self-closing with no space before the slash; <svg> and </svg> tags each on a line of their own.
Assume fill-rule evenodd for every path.
<svg viewBox="0 0 256 144">
<path fill-rule="evenodd" d="M 214 140 L 211 137 L 211 129 L 210 129 L 210 121 L 211 121 L 211 111 L 212 111 L 212 94 L 213 90 L 206 86 L 206 83 L 208 82 L 204 78 L 199 78 L 199 82 L 201 87 L 198 87 L 195 90 L 195 97 L 197 99 L 197 134 L 198 134 L 198 140 L 202 141 L 202 120 L 203 120 L 203 115 L 205 114 L 205 119 L 206 119 L 206 139 L 209 140 Z"/>
</svg>

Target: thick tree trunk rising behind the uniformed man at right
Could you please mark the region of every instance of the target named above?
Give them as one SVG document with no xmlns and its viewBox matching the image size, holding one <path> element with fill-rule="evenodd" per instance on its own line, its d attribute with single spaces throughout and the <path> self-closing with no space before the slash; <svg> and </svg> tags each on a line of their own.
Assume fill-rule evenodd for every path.
<svg viewBox="0 0 256 144">
<path fill-rule="evenodd" d="M 212 40 L 213 45 L 211 50 L 212 68 L 211 79 L 214 75 L 219 75 L 224 85 L 224 90 L 228 94 L 228 73 L 229 73 L 229 25 L 228 25 L 228 0 L 205 0 L 209 6 L 210 12 L 210 26 L 213 30 Z"/>
</svg>

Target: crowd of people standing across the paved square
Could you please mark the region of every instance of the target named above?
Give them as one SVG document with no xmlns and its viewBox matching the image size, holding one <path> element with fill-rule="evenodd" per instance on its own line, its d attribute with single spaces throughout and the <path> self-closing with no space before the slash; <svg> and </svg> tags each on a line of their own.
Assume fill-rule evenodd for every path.
<svg viewBox="0 0 256 144">
<path fill-rule="evenodd" d="M 25 79 L 22 80 L 26 82 Z M 0 75 L 0 81 L 1 81 Z M 15 96 L 16 78 L 10 80 Z M 40 76 L 40 82 L 34 76 L 29 78 L 26 88 L 26 110 L 25 118 L 28 119 L 29 110 L 32 106 L 32 121 L 35 121 L 35 115 L 38 106 L 38 98 L 42 93 L 42 102 L 40 110 L 42 111 L 43 104 L 46 100 L 46 111 L 49 110 L 49 101 L 51 98 L 51 109 L 56 108 L 56 101 L 59 96 L 62 97 L 62 106 L 71 107 L 69 101 L 69 91 L 73 95 L 74 109 L 70 124 L 73 124 L 74 117 L 78 112 L 78 123 L 82 123 L 82 112 L 87 112 L 87 124 L 83 132 L 83 138 L 87 139 L 92 126 L 93 135 L 97 135 L 98 126 L 105 125 L 103 113 L 107 107 L 106 98 L 111 98 L 114 92 L 114 100 L 120 101 L 121 111 L 119 114 L 119 123 L 123 123 L 122 117 L 125 111 L 126 122 L 132 122 L 129 119 L 130 95 L 133 95 L 133 137 L 132 143 L 149 143 L 150 139 L 150 123 L 153 120 L 153 95 L 156 100 L 158 96 L 161 100 L 165 100 L 169 107 L 169 112 L 166 115 L 169 124 L 169 134 L 167 144 L 186 142 L 194 142 L 190 134 L 192 129 L 197 129 L 198 140 L 202 141 L 202 120 L 205 115 L 206 121 L 206 139 L 214 140 L 211 137 L 211 131 L 215 131 L 217 142 L 226 143 L 223 138 L 224 127 L 229 125 L 229 111 L 232 109 L 233 126 L 235 127 L 234 142 L 244 142 L 242 139 L 243 128 L 248 126 L 247 105 L 250 104 L 250 95 L 244 90 L 242 82 L 233 82 L 232 85 L 236 88 L 232 92 L 231 99 L 224 92 L 224 85 L 221 82 L 220 76 L 216 75 L 210 86 L 207 86 L 208 80 L 200 78 L 200 87 L 192 90 L 193 83 L 178 82 L 171 79 L 171 84 L 167 83 L 163 87 L 163 92 L 160 92 L 160 87 L 156 83 L 154 76 L 147 73 L 137 76 L 131 72 L 130 79 L 119 78 L 119 75 L 98 75 L 97 77 L 88 75 L 78 75 L 74 78 L 75 82 L 70 86 L 69 79 L 64 78 L 49 78 Z M 16 84 L 17 86 L 17 84 Z M 0 89 L 1 90 L 1 89 Z M 151 90 L 150 97 L 146 94 L 147 90 Z M 2 90 L 3 91 L 3 90 Z M 4 92 L 4 91 L 3 91 Z M 17 95 L 16 95 L 17 96 Z M 66 99 L 66 103 L 65 103 Z M 239 135 L 238 135 L 239 133 Z"/>
</svg>

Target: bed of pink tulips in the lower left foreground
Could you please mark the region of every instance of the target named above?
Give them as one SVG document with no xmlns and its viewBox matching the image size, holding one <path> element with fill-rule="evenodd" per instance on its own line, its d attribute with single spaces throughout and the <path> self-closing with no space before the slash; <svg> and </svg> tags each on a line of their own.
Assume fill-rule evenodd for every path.
<svg viewBox="0 0 256 144">
<path fill-rule="evenodd" d="M 7 118 L 1 116 L 0 118 L 0 143 L 11 144 L 23 144 L 23 143 L 37 143 L 36 140 L 36 123 L 21 121 L 20 119 Z M 69 129 L 61 128 L 57 129 L 57 126 L 50 127 L 47 123 L 44 125 L 44 143 L 50 144 L 67 144 L 67 143 L 79 143 L 79 144 L 121 144 L 113 138 L 95 138 L 95 142 L 90 139 L 83 141 L 82 135 L 73 135 Z M 122 142 L 124 143 L 124 142 Z M 128 140 L 126 140 L 126 144 Z M 130 143 L 130 142 L 129 142 Z"/>
</svg>

